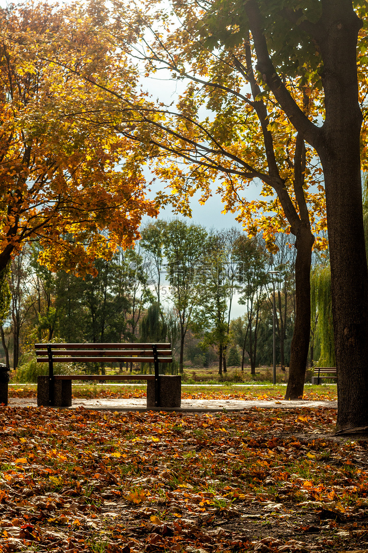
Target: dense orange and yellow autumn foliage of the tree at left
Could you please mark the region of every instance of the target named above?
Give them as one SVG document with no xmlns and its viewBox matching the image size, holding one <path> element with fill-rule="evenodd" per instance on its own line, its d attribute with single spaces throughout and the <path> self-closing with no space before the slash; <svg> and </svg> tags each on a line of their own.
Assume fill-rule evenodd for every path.
<svg viewBox="0 0 368 553">
<path fill-rule="evenodd" d="M 120 101 L 84 78 L 135 93 L 134 68 L 84 28 L 92 18 L 78 6 L 0 10 L 0 269 L 39 241 L 49 267 L 94 272 L 96 257 L 130 246 L 142 215 L 157 212 L 131 142 L 116 132 Z M 50 61 L 56 53 L 75 71 Z"/>
</svg>

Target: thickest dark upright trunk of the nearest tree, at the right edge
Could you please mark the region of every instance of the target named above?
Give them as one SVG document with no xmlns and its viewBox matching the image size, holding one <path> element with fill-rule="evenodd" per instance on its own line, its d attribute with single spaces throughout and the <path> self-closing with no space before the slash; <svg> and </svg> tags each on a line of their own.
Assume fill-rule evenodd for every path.
<svg viewBox="0 0 368 553">
<path fill-rule="evenodd" d="M 368 425 L 368 272 L 360 176 L 356 43 L 360 21 L 351 2 L 325 1 L 326 120 L 318 148 L 323 165 L 340 430 Z M 336 24 L 336 22 L 338 24 Z"/>
</svg>

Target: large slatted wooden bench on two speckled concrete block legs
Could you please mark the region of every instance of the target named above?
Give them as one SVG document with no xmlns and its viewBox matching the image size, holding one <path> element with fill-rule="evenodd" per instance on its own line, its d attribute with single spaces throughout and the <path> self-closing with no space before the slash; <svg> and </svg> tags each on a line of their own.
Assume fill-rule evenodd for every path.
<svg viewBox="0 0 368 553">
<path fill-rule="evenodd" d="M 159 374 L 159 363 L 172 362 L 170 343 L 35 344 L 37 362 L 48 363 L 38 377 L 37 405 L 71 406 L 72 380 L 146 380 L 147 409 L 181 405 L 181 377 Z M 153 363 L 155 374 L 54 374 L 54 363 Z"/>
</svg>

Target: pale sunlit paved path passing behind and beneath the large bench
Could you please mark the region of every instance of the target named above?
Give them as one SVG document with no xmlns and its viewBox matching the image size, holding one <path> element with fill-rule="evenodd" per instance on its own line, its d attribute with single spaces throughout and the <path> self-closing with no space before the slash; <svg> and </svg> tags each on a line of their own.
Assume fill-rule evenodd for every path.
<svg viewBox="0 0 368 553">
<path fill-rule="evenodd" d="M 32 398 L 9 398 L 9 407 L 37 406 L 37 400 Z M 129 399 L 73 399 L 70 409 L 84 407 L 85 409 L 97 409 L 108 411 L 146 411 L 145 398 Z M 181 408 L 165 409 L 165 411 L 196 412 L 196 411 L 243 411 L 258 407 L 262 409 L 300 409 L 309 407 L 312 409 L 329 408 L 337 409 L 337 401 L 308 401 L 308 400 L 238 400 L 238 399 L 182 399 Z"/>
</svg>

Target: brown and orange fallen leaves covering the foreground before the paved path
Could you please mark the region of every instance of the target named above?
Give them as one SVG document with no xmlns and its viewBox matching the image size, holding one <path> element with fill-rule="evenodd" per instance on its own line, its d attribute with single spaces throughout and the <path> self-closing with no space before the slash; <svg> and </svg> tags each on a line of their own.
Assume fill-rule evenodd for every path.
<svg viewBox="0 0 368 553">
<path fill-rule="evenodd" d="M 332 409 L 0 408 L 0 551 L 368 549 L 367 442 Z"/>
</svg>

